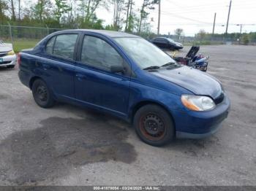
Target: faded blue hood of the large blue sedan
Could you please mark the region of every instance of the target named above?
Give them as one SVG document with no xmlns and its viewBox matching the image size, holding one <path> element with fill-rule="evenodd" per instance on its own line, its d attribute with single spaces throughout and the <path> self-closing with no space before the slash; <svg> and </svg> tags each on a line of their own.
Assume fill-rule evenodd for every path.
<svg viewBox="0 0 256 191">
<path fill-rule="evenodd" d="M 151 74 L 184 87 L 196 95 L 208 95 L 211 98 L 217 98 L 222 93 L 222 86 L 217 79 L 203 73 L 203 71 L 187 66 L 176 69 L 159 69 L 157 72 L 151 72 Z"/>
</svg>

